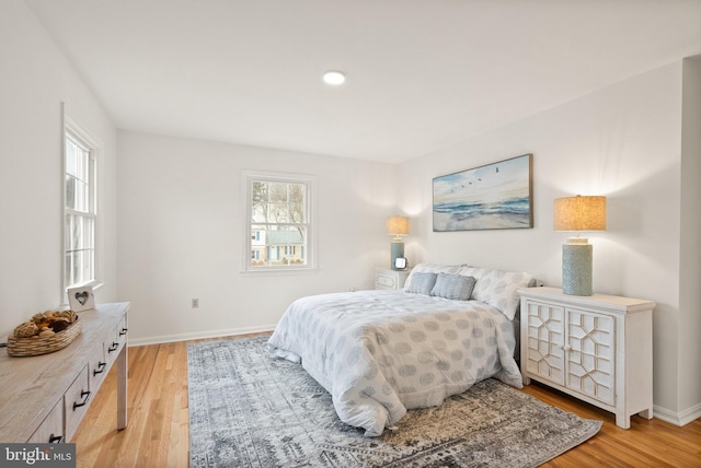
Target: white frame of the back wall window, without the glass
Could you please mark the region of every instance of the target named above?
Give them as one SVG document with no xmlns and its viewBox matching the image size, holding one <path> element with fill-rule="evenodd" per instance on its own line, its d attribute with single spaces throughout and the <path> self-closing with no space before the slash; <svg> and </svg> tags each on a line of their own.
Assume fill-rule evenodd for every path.
<svg viewBox="0 0 701 468">
<path fill-rule="evenodd" d="M 304 265 L 277 265 L 277 266 L 253 266 L 252 260 L 252 206 L 253 206 L 253 183 L 257 180 L 302 184 L 306 186 L 307 192 L 307 247 L 304 255 L 307 261 Z M 315 222 L 315 202 L 317 202 L 317 177 L 312 175 L 286 174 L 262 171 L 243 171 L 241 176 L 242 199 L 245 202 L 243 207 L 243 215 L 245 218 L 243 224 L 243 255 L 241 271 L 244 273 L 294 273 L 309 272 L 317 269 L 317 222 Z"/>
</svg>

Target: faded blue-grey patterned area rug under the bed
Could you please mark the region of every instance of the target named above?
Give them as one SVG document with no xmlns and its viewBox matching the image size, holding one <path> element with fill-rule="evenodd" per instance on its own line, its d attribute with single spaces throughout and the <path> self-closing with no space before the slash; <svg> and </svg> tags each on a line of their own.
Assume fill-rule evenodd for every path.
<svg viewBox="0 0 701 468">
<path fill-rule="evenodd" d="M 601 428 L 487 379 L 365 437 L 267 339 L 188 346 L 191 467 L 533 467 Z"/>
</svg>

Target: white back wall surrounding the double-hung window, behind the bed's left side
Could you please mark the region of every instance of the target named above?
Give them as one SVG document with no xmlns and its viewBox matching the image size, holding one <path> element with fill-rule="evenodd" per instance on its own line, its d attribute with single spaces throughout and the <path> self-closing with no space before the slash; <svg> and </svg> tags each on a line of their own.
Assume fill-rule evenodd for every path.
<svg viewBox="0 0 701 468">
<path fill-rule="evenodd" d="M 242 274 L 241 172 L 314 175 L 319 270 Z M 119 293 L 131 343 L 272 329 L 300 296 L 371 289 L 395 166 L 119 133 Z M 199 308 L 191 300 L 199 299 Z"/>
</svg>

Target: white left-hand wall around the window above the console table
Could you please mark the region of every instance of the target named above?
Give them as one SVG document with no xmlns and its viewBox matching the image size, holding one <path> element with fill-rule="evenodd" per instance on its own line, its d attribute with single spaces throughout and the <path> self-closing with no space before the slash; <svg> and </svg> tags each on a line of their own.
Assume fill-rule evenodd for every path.
<svg viewBox="0 0 701 468">
<path fill-rule="evenodd" d="M 58 306 L 62 270 L 62 113 L 101 143 L 104 286 L 116 300 L 116 130 L 21 0 L 0 2 L 0 334 Z"/>
</svg>

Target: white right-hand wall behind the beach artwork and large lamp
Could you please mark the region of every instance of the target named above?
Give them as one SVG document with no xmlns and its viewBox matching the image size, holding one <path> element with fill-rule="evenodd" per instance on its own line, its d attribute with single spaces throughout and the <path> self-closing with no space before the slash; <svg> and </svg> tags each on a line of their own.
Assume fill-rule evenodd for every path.
<svg viewBox="0 0 701 468">
<path fill-rule="evenodd" d="M 553 199 L 577 194 L 607 196 L 608 230 L 587 234 L 594 244 L 594 289 L 657 303 L 654 403 L 656 414 L 659 411 L 668 420 L 701 401 L 698 366 L 680 375 L 689 372 L 680 364 L 697 360 L 699 349 L 690 343 L 698 341 L 698 327 L 694 332 L 681 332 L 685 325 L 680 321 L 693 314 L 698 325 L 699 316 L 698 292 L 690 308 L 680 308 L 681 83 L 679 61 L 415 159 L 401 167 L 400 176 L 402 208 L 415 213 L 422 233 L 407 246 L 410 255 L 413 251 L 428 261 L 530 271 L 553 286 L 562 284 L 561 245 L 568 235 L 552 229 Z M 698 120 L 696 125 L 698 136 Z M 686 185 L 698 187 L 698 140 L 690 144 L 696 159 L 687 162 L 694 175 L 689 175 Z M 532 230 L 432 231 L 433 177 L 525 153 L 533 153 Z M 698 233 L 698 188 L 693 194 L 696 198 L 686 208 L 692 221 L 685 224 Z M 688 241 L 697 258 L 698 241 L 698 234 Z M 693 270 L 689 288 L 698 291 L 698 260 L 687 264 Z M 689 350 L 697 350 L 685 360 L 680 354 L 688 350 L 679 349 L 680 335 L 687 336 Z"/>
</svg>

